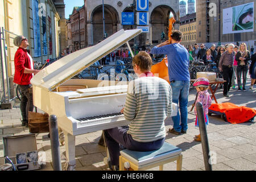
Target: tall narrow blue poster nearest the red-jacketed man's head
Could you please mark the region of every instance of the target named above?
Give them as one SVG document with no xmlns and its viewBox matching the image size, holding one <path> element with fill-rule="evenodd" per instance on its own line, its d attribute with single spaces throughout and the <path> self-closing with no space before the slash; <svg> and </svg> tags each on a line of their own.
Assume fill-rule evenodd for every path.
<svg viewBox="0 0 256 182">
<path fill-rule="evenodd" d="M 34 32 L 34 56 L 41 56 L 40 24 L 38 15 L 38 0 L 32 1 L 33 32 Z"/>
</svg>

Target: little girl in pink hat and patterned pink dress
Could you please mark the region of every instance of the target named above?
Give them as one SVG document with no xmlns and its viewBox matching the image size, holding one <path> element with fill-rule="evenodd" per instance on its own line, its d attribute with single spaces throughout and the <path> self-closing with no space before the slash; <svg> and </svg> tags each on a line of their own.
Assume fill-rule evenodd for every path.
<svg viewBox="0 0 256 182">
<path fill-rule="evenodd" d="M 195 101 L 195 114 L 196 114 L 196 122 L 195 126 L 199 127 L 197 113 L 196 113 L 196 103 L 201 102 L 203 105 L 204 110 L 204 118 L 205 118 L 205 125 L 208 125 L 208 108 L 212 104 L 212 99 L 210 98 L 210 94 L 208 93 L 209 89 L 209 80 L 204 77 L 197 78 L 194 82 L 193 86 L 196 86 L 197 94 L 196 94 L 196 101 Z M 199 135 L 195 135 L 195 141 L 201 142 L 201 137 Z"/>
</svg>

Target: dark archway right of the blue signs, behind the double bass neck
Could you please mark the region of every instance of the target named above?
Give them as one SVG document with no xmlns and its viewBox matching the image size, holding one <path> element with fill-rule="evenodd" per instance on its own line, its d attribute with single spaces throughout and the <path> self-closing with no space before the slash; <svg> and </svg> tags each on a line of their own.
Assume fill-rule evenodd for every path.
<svg viewBox="0 0 256 182">
<path fill-rule="evenodd" d="M 161 33 L 164 32 L 165 40 L 168 39 L 168 26 L 170 15 L 176 19 L 175 11 L 167 5 L 160 5 L 155 7 L 150 15 L 150 23 L 152 26 L 152 44 L 159 44 L 161 42 Z"/>
</svg>

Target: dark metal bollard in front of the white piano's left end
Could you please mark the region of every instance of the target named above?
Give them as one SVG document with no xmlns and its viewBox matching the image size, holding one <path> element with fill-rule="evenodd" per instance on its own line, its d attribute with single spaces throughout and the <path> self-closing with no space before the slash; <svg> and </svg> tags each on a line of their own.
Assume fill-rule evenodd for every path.
<svg viewBox="0 0 256 182">
<path fill-rule="evenodd" d="M 51 138 L 53 171 L 61 171 L 60 143 L 56 115 L 49 116 L 49 134 Z"/>
</svg>

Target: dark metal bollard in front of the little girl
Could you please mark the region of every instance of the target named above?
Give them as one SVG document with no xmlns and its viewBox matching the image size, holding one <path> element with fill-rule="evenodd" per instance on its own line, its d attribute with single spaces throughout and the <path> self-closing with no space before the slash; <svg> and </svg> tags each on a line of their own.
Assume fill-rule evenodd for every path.
<svg viewBox="0 0 256 182">
<path fill-rule="evenodd" d="M 202 148 L 203 148 L 205 171 L 212 171 L 212 164 L 209 163 L 210 149 L 209 149 L 209 143 L 208 143 L 208 137 L 207 137 L 207 130 L 205 127 L 204 110 L 203 110 L 203 105 L 201 104 L 201 102 L 196 103 L 196 112 L 197 112 L 197 119 L 199 122 L 201 144 L 202 144 Z"/>
</svg>

